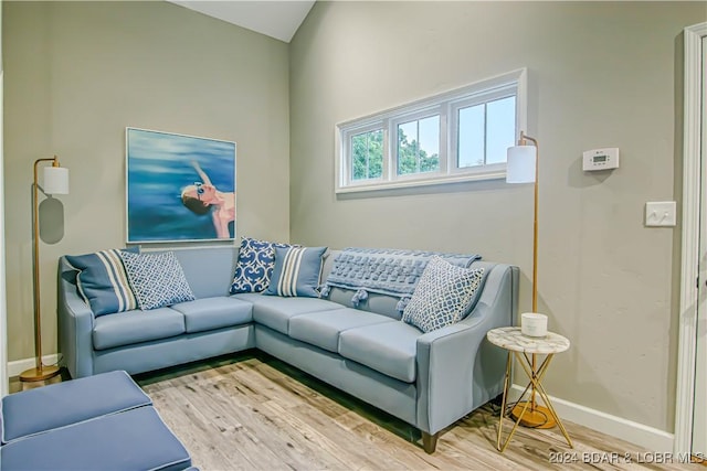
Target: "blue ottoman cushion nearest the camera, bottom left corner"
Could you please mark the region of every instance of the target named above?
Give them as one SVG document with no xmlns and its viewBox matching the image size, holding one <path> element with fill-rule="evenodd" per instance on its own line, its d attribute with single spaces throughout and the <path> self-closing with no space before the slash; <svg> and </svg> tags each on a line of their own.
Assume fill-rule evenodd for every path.
<svg viewBox="0 0 707 471">
<path fill-rule="evenodd" d="M 8 470 L 183 470 L 191 458 L 152 406 L 51 430 L 0 448 Z"/>
</svg>

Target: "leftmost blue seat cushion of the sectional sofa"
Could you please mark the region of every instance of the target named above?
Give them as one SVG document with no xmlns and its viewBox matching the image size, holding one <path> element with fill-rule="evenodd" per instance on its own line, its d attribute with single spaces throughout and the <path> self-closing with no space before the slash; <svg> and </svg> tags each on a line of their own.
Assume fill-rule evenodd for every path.
<svg viewBox="0 0 707 471">
<path fill-rule="evenodd" d="M 184 315 L 170 308 L 126 311 L 94 320 L 93 347 L 106 350 L 184 333 Z"/>
</svg>

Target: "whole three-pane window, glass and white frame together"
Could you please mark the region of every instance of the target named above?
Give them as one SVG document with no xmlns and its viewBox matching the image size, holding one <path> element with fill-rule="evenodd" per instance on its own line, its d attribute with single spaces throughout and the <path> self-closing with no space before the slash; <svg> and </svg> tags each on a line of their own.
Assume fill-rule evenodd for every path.
<svg viewBox="0 0 707 471">
<path fill-rule="evenodd" d="M 337 192 L 504 178 L 526 71 L 337 126 Z"/>
</svg>

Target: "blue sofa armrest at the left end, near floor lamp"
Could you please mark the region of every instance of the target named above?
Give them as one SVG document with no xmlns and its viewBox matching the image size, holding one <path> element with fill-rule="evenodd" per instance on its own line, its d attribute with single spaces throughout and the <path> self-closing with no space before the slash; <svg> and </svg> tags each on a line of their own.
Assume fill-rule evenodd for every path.
<svg viewBox="0 0 707 471">
<path fill-rule="evenodd" d="M 57 306 L 59 317 L 59 347 L 62 363 L 68 370 L 72 378 L 93 375 L 93 311 L 76 292 L 76 286 L 71 282 L 63 258 L 59 264 Z"/>
</svg>

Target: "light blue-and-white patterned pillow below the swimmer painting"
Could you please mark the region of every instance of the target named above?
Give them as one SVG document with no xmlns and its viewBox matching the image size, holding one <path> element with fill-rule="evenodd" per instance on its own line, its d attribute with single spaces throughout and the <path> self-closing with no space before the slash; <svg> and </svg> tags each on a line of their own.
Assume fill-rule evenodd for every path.
<svg viewBox="0 0 707 471">
<path fill-rule="evenodd" d="M 172 251 L 139 255 L 123 253 L 120 256 L 141 310 L 194 300 L 181 265 Z"/>
</svg>

